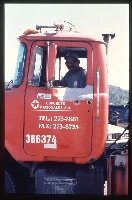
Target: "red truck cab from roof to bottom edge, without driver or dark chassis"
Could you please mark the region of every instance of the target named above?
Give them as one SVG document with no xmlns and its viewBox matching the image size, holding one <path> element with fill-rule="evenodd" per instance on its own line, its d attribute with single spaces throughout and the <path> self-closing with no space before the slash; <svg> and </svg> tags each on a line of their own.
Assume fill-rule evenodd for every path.
<svg viewBox="0 0 132 200">
<path fill-rule="evenodd" d="M 108 130 L 107 44 L 58 29 L 18 40 L 13 84 L 5 93 L 6 149 L 17 161 L 97 160 Z M 87 71 L 85 88 L 52 84 L 64 76 L 69 51 Z"/>
</svg>

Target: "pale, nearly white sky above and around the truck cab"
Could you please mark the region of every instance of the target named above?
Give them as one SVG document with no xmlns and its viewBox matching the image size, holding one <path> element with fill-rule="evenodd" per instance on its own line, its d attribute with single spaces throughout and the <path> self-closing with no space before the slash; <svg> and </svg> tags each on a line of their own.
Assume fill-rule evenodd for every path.
<svg viewBox="0 0 132 200">
<path fill-rule="evenodd" d="M 109 44 L 108 84 L 129 90 L 129 4 L 5 4 L 5 81 L 13 78 L 18 36 L 36 24 L 53 26 L 58 20 L 100 39 L 115 33 Z"/>
</svg>

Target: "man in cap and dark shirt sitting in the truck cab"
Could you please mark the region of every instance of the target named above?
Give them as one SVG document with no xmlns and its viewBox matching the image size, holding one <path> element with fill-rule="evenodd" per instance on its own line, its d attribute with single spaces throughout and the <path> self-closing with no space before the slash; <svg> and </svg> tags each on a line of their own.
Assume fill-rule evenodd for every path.
<svg viewBox="0 0 132 200">
<path fill-rule="evenodd" d="M 69 88 L 84 88 L 86 86 L 86 71 L 79 66 L 80 60 L 78 59 L 78 55 L 69 52 L 64 59 L 66 60 L 65 64 L 69 71 L 62 80 L 55 80 L 53 85 Z"/>
</svg>

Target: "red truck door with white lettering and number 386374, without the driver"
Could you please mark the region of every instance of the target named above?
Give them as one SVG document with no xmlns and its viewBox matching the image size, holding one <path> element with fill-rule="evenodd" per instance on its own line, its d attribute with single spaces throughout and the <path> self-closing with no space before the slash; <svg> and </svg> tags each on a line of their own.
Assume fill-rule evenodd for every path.
<svg viewBox="0 0 132 200">
<path fill-rule="evenodd" d="M 66 73 L 69 51 L 87 71 L 85 88 L 53 86 Z M 25 95 L 24 151 L 43 160 L 75 161 L 92 150 L 92 48 L 86 42 L 52 42 L 32 47 Z M 84 62 L 85 61 L 85 62 Z M 38 160 L 38 159 L 37 159 Z"/>
</svg>

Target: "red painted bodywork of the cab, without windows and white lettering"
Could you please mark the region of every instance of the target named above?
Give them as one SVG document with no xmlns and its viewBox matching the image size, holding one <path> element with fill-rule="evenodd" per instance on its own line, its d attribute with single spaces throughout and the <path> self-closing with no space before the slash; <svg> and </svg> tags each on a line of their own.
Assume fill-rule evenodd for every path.
<svg viewBox="0 0 132 200">
<path fill-rule="evenodd" d="M 46 102 L 58 103 L 60 101 L 54 95 L 57 89 L 47 90 L 46 88 L 35 88 L 26 85 L 30 54 L 32 53 L 30 48 L 34 38 L 33 35 L 22 36 L 19 39 L 26 42 L 28 49 L 25 77 L 20 87 L 12 88 L 5 93 L 5 147 L 18 161 L 51 160 L 86 163 L 91 158 L 98 159 L 104 151 L 108 131 L 108 85 L 105 44 L 96 42 L 92 38 L 74 37 L 74 34 L 70 36 L 70 33 L 65 33 L 64 35 L 63 33 L 58 35 L 47 34 L 47 36 L 45 34 L 39 35 L 41 37 L 34 36 L 36 40 L 40 40 L 36 42 L 38 46 L 44 45 L 43 40 L 53 40 L 57 46 L 84 47 L 88 50 L 87 84 L 93 86 L 94 89 L 92 104 L 87 104 L 86 100 L 81 100 L 79 105 L 66 101 L 65 106 L 70 107 L 70 111 L 35 111 L 31 106 L 34 100 L 39 101 L 41 106 L 45 106 Z M 54 47 L 49 48 L 49 55 L 54 56 Z M 52 65 L 52 67 L 50 68 L 49 65 Z M 47 66 L 50 69 L 48 73 L 50 78 L 53 76 L 53 65 L 54 58 L 52 62 L 50 56 Z M 96 121 L 97 67 L 99 67 L 100 73 L 99 121 Z M 38 93 L 51 94 L 51 99 L 38 99 Z M 78 117 L 77 122 L 63 121 L 61 124 L 63 127 L 66 123 L 78 125 L 79 129 L 54 129 L 53 121 L 46 122 L 51 128 L 38 128 L 40 123 L 38 116 L 42 115 L 48 118 L 52 117 L 52 119 L 55 116 Z M 60 121 L 54 121 L 54 124 L 60 124 Z M 55 136 L 57 148 L 44 148 L 43 143 L 26 143 L 27 134 Z"/>
</svg>

